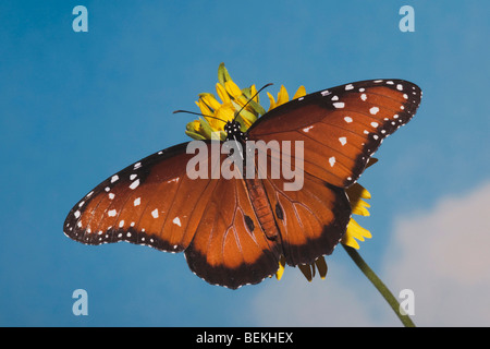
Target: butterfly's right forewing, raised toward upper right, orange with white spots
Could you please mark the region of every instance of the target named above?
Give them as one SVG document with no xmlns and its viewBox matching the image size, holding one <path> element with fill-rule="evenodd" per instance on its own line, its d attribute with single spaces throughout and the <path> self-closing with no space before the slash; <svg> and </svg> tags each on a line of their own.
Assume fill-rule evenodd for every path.
<svg viewBox="0 0 490 349">
<path fill-rule="evenodd" d="M 301 141 L 304 170 L 346 188 L 364 171 L 381 142 L 414 116 L 418 86 L 402 80 L 342 85 L 284 104 L 260 118 L 250 140 Z"/>
</svg>

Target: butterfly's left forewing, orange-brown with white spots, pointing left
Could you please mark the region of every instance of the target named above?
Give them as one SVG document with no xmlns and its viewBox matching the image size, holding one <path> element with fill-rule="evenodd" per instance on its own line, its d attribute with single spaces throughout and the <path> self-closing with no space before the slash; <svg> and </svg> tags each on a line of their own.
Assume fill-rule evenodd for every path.
<svg viewBox="0 0 490 349">
<path fill-rule="evenodd" d="M 200 221 L 210 180 L 186 176 L 186 144 L 139 160 L 90 191 L 70 212 L 64 232 L 72 239 L 100 244 L 128 241 L 180 252 Z"/>
</svg>

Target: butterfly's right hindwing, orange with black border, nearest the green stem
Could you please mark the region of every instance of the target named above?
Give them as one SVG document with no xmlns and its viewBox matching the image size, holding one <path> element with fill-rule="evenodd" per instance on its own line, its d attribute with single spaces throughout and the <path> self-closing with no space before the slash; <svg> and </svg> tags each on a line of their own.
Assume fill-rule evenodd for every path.
<svg viewBox="0 0 490 349">
<path fill-rule="evenodd" d="M 289 265 L 311 264 L 331 254 L 351 218 L 345 190 L 305 173 L 304 184 L 284 191 L 283 179 L 264 180 L 281 232 L 282 249 Z"/>
</svg>

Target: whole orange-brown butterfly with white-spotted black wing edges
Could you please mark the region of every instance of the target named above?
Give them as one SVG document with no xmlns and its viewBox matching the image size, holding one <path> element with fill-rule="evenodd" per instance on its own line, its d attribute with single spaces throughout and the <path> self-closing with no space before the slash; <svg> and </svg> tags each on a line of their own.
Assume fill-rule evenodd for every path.
<svg viewBox="0 0 490 349">
<path fill-rule="evenodd" d="M 74 205 L 63 231 L 86 244 L 127 241 L 184 252 L 193 273 L 232 289 L 273 275 L 280 257 L 291 266 L 311 264 L 331 254 L 346 231 L 352 212 L 345 190 L 381 142 L 413 118 L 420 99 L 420 88 L 407 81 L 362 81 L 283 104 L 245 133 L 230 122 L 226 140 L 240 144 L 302 144 L 301 189 L 284 190 L 291 180 L 267 168 L 260 178 L 192 179 L 186 170 L 194 154 L 182 143 L 106 179 Z M 212 142 L 205 146 L 211 149 Z M 273 152 L 266 156 L 269 164 L 280 161 Z M 209 155 L 205 163 L 216 168 L 229 157 Z"/>
</svg>

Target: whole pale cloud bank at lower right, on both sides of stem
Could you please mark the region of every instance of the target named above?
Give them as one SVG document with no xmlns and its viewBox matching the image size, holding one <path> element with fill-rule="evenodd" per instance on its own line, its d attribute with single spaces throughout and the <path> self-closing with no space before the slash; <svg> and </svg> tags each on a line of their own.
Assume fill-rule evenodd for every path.
<svg viewBox="0 0 490 349">
<path fill-rule="evenodd" d="M 414 290 L 416 325 L 490 325 L 488 197 L 490 183 L 464 197 L 441 200 L 430 212 L 396 220 L 379 275 L 392 290 Z M 286 268 L 283 280 L 269 282 L 252 305 L 257 325 L 401 325 L 338 250 L 326 280 L 308 284 L 299 270 Z"/>
</svg>

